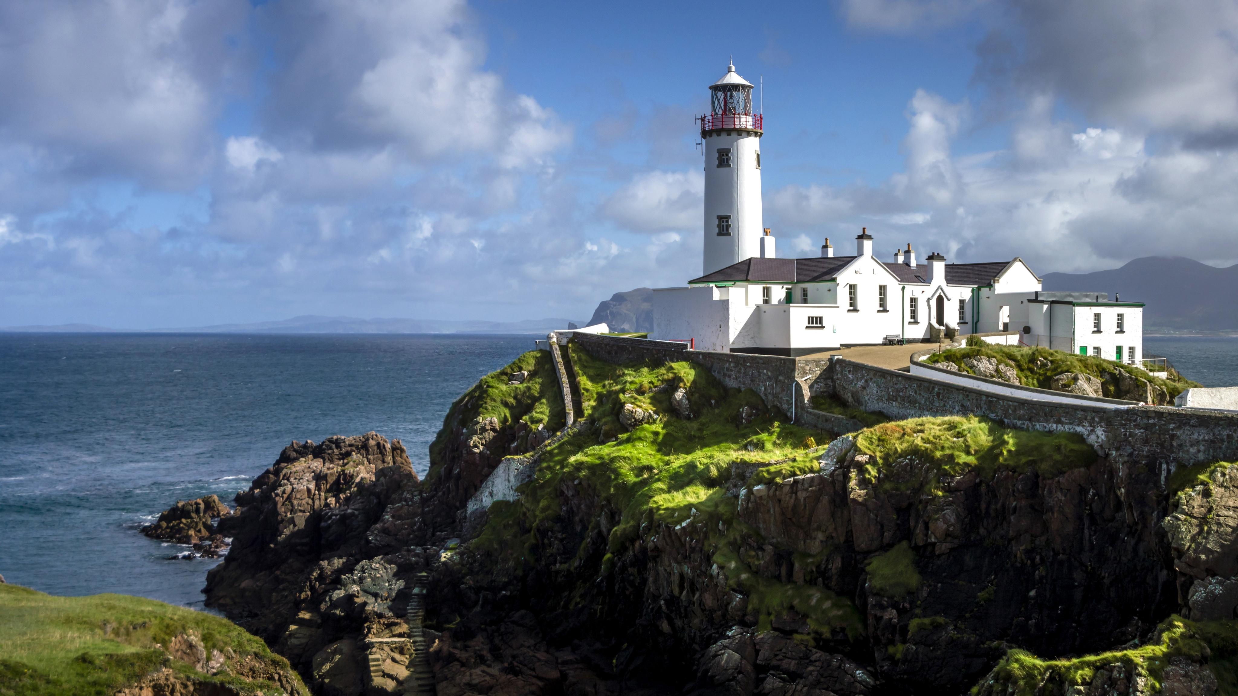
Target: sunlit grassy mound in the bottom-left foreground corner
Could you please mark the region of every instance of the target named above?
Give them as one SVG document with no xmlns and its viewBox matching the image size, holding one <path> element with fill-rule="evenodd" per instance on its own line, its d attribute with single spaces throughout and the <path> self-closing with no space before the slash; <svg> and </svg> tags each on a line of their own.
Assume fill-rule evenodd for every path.
<svg viewBox="0 0 1238 696">
<path fill-rule="evenodd" d="M 230 649 L 295 675 L 259 638 L 213 614 L 125 594 L 54 597 L 0 585 L 0 696 L 110 695 L 161 668 L 243 691 L 284 692 L 274 682 L 198 672 L 158 648 L 191 632 L 208 654 Z M 308 694 L 300 680 L 297 686 Z"/>
</svg>

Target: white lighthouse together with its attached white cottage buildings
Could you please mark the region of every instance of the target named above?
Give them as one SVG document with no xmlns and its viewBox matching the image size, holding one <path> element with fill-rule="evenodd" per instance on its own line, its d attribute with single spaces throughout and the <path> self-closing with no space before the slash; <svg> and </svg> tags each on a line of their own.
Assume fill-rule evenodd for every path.
<svg viewBox="0 0 1238 696">
<path fill-rule="evenodd" d="M 650 338 L 691 339 L 701 350 L 807 355 L 891 338 L 933 341 L 938 332 L 1006 333 L 995 342 L 1045 346 L 1141 364 L 1143 303 L 1103 292 L 1044 292 L 1023 259 L 917 263 L 911 244 L 873 255 L 867 229 L 854 255 L 779 259 L 761 224 L 761 114 L 753 84 L 735 73 L 709 85 L 704 144 L 702 275 L 654 291 Z"/>
</svg>

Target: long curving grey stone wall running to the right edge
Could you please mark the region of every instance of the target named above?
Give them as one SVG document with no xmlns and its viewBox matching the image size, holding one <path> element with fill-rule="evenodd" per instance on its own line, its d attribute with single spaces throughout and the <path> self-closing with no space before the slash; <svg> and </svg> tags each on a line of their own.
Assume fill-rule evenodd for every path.
<svg viewBox="0 0 1238 696">
<path fill-rule="evenodd" d="M 1238 414 L 1051 404 L 846 359 L 818 379 L 843 402 L 894 419 L 976 414 L 1024 430 L 1078 432 L 1107 456 L 1155 467 L 1162 482 L 1179 466 L 1238 461 Z"/>
</svg>

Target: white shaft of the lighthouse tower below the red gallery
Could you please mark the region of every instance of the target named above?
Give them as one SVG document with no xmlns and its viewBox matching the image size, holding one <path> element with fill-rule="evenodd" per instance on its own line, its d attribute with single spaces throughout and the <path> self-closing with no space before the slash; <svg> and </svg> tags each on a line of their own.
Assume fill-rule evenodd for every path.
<svg viewBox="0 0 1238 696">
<path fill-rule="evenodd" d="M 711 274 L 761 255 L 760 136 L 754 131 L 709 131 L 704 141 L 704 263 Z M 730 149 L 730 166 L 719 167 L 717 151 Z M 718 237 L 718 215 L 730 215 L 730 237 Z"/>
</svg>

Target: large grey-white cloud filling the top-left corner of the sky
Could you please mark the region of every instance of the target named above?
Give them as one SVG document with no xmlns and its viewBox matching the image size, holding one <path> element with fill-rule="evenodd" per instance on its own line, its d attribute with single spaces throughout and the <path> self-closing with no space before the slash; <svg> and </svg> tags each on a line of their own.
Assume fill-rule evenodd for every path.
<svg viewBox="0 0 1238 696">
<path fill-rule="evenodd" d="M 57 172 L 192 186 L 243 57 L 219 40 L 243 12 L 228 0 L 0 5 L 0 129 Z"/>
</svg>

